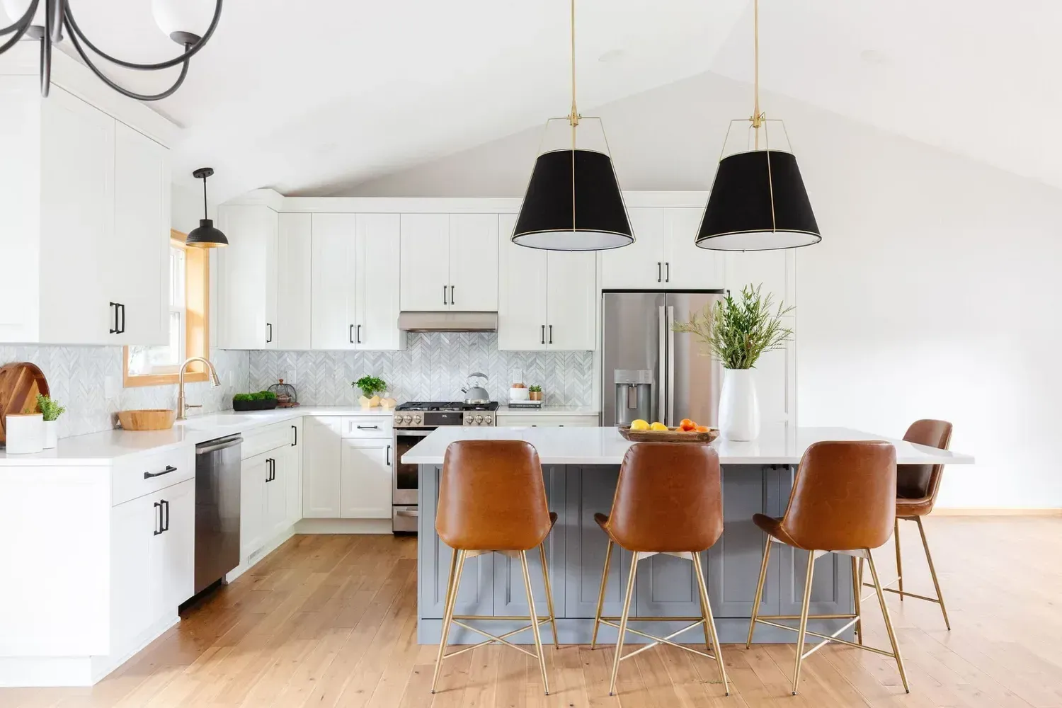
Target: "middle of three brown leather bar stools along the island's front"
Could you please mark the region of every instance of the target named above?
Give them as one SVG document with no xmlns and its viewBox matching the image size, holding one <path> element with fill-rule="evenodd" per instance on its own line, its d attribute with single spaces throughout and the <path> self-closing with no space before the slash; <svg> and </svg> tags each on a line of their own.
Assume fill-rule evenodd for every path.
<svg viewBox="0 0 1062 708">
<path fill-rule="evenodd" d="M 712 548 L 723 533 L 722 482 L 719 473 L 719 454 L 715 448 L 707 445 L 675 443 L 632 445 L 623 455 L 623 464 L 619 468 L 619 481 L 616 483 L 616 495 L 612 501 L 612 515 L 595 514 L 594 520 L 609 535 L 609 548 L 604 556 L 604 571 L 601 573 L 601 590 L 598 593 L 590 649 L 597 644 L 600 625 L 605 624 L 619 629 L 616 655 L 612 661 L 609 695 L 614 695 L 616 692 L 616 676 L 619 673 L 620 661 L 662 643 L 715 659 L 719 664 L 723 690 L 730 695 L 726 667 L 723 666 L 723 658 L 719 652 L 719 637 L 716 633 L 715 618 L 712 616 L 700 556 L 700 553 Z M 604 605 L 613 543 L 631 551 L 634 557 L 627 580 L 622 615 L 602 617 L 601 608 Z M 698 592 L 701 595 L 701 617 L 630 616 L 638 562 L 657 553 L 692 562 Z M 616 624 L 616 620 L 619 624 Z M 655 637 L 627 626 L 628 622 L 632 621 L 692 622 L 695 620 L 693 624 L 667 637 Z M 698 626 L 704 627 L 704 644 L 707 652 L 699 652 L 672 641 L 678 635 Z M 654 641 L 622 656 L 623 639 L 628 632 Z"/>
</svg>

